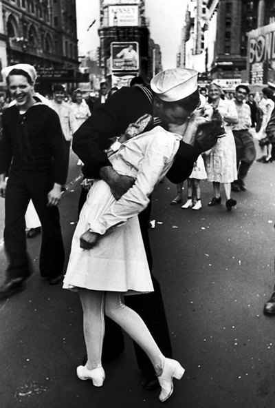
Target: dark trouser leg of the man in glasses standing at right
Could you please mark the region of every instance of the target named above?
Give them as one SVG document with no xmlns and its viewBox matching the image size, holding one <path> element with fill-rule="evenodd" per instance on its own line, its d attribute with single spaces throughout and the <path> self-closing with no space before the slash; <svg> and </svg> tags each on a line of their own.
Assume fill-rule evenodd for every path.
<svg viewBox="0 0 275 408">
<path fill-rule="evenodd" d="M 248 131 L 241 133 L 243 143 L 242 154 L 240 157 L 241 163 L 239 165 L 238 180 L 241 185 L 244 185 L 244 179 L 248 174 L 252 163 L 256 158 L 256 149 L 253 141 L 253 136 Z"/>
</svg>

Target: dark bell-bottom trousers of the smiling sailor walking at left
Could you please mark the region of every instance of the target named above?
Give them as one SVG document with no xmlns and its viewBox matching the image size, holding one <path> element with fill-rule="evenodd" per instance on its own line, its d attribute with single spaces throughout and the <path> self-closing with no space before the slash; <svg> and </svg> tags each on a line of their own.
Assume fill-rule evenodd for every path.
<svg viewBox="0 0 275 408">
<path fill-rule="evenodd" d="M 31 265 L 25 237 L 25 212 L 30 199 L 39 215 L 42 242 L 39 259 L 41 276 L 54 278 L 63 273 L 65 252 L 58 207 L 47 205 L 53 187 L 49 174 L 20 172 L 11 174 L 5 192 L 5 253 L 8 258 L 7 279 L 28 278 Z"/>
</svg>

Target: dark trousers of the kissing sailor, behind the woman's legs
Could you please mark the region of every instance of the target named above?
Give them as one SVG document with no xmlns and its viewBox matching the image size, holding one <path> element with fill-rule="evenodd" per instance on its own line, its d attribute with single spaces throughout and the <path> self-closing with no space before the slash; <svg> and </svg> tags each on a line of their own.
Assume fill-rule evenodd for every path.
<svg viewBox="0 0 275 408">
<path fill-rule="evenodd" d="M 81 210 L 85 203 L 87 196 L 87 190 L 82 189 L 79 199 L 78 210 Z M 139 214 L 140 230 L 142 233 L 142 239 L 144 242 L 144 248 L 146 251 L 147 261 L 150 270 L 152 271 L 152 254 L 150 241 L 148 236 L 148 225 L 150 220 L 151 202 L 144 211 Z M 131 307 L 137 314 L 144 320 L 145 325 L 148 327 L 153 338 L 155 339 L 159 349 L 164 356 L 172 357 L 172 346 L 170 342 L 170 334 L 168 324 L 166 320 L 166 313 L 164 309 L 164 301 L 162 299 L 162 292 L 160 285 L 151 273 L 153 281 L 154 292 L 150 294 L 140 294 L 125 296 L 124 302 L 127 306 Z M 105 316 L 105 336 L 103 341 L 102 358 L 108 358 L 113 354 L 118 353 L 123 349 L 123 334 L 119 325 L 113 322 L 110 318 Z M 137 365 L 142 371 L 144 376 L 153 376 L 155 369 L 149 360 L 143 349 L 133 342 L 135 348 L 135 356 L 137 358 Z"/>
</svg>

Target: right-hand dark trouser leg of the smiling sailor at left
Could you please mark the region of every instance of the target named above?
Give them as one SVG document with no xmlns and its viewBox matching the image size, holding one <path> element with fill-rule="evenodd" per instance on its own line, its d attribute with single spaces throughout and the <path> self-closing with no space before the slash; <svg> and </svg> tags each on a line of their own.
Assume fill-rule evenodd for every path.
<svg viewBox="0 0 275 408">
<path fill-rule="evenodd" d="M 28 176 L 28 190 L 42 226 L 40 273 L 47 278 L 63 274 L 65 260 L 58 207 L 47 205 L 47 194 L 53 185 L 54 181 L 50 174 L 38 173 Z"/>
</svg>

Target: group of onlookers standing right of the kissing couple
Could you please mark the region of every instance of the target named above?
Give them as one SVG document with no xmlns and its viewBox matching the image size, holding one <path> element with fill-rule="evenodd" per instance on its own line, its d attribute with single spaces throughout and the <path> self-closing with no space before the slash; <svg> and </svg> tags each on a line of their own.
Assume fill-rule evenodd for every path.
<svg viewBox="0 0 275 408">
<path fill-rule="evenodd" d="M 256 159 L 255 141 L 265 150 L 257 161 L 270 163 L 275 159 L 275 84 L 261 92 L 250 92 L 246 84 L 236 86 L 234 92 L 226 92 L 218 81 L 212 81 L 207 87 L 200 88 L 200 93 L 207 99 L 205 110 L 210 106 L 219 110 L 223 117 L 224 137 L 208 152 L 203 152 L 194 163 L 194 168 L 187 181 L 187 200 L 184 200 L 183 183 L 177 185 L 177 195 L 172 205 L 181 204 L 181 208 L 200 210 L 201 180 L 213 185 L 213 197 L 208 206 L 221 204 L 221 190 L 225 192 L 225 207 L 228 211 L 236 205 L 231 192 L 246 190 L 245 178 Z"/>
</svg>

